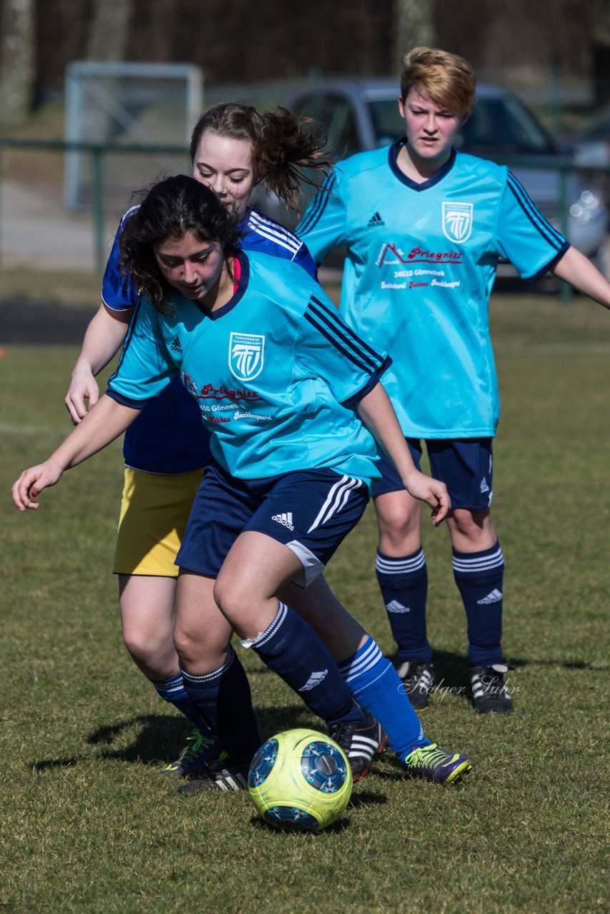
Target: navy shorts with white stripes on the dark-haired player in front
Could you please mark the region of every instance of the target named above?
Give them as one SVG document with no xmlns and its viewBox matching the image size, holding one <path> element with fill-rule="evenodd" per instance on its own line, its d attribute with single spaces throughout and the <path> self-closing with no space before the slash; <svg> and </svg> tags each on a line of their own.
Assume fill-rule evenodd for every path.
<svg viewBox="0 0 610 914">
<path fill-rule="evenodd" d="M 195 496 L 176 564 L 210 578 L 237 537 L 255 530 L 284 543 L 303 565 L 307 587 L 356 526 L 369 500 L 362 480 L 326 468 L 266 479 L 235 479 L 211 463 Z"/>
</svg>

